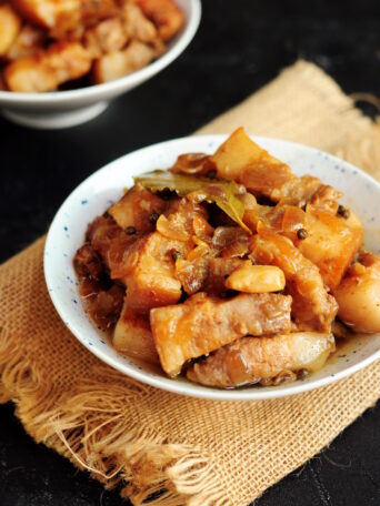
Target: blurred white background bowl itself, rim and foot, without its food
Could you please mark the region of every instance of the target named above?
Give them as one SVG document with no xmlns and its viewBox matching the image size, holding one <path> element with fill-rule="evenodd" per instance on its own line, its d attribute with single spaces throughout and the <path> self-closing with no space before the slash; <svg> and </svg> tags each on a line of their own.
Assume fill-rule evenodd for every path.
<svg viewBox="0 0 380 506">
<path fill-rule="evenodd" d="M 194 37 L 200 18 L 200 0 L 176 0 L 186 17 L 181 32 L 168 44 L 168 51 L 124 78 L 70 91 L 13 93 L 0 91 L 0 110 L 7 119 L 37 129 L 62 129 L 92 120 L 108 103 L 152 78 L 168 67 Z"/>
</svg>

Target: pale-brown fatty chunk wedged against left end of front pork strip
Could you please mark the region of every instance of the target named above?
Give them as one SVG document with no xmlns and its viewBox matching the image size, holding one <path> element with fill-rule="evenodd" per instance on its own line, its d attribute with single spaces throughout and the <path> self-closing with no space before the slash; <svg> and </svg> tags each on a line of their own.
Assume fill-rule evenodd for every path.
<svg viewBox="0 0 380 506">
<path fill-rule="evenodd" d="M 116 350 L 127 355 L 153 364 L 160 362 L 150 331 L 149 317 L 130 310 L 126 303 L 113 331 L 112 344 Z"/>
</svg>

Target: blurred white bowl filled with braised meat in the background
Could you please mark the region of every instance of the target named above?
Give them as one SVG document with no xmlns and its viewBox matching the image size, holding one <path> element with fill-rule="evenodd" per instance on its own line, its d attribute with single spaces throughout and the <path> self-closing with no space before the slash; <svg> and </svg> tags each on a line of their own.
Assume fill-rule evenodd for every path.
<svg viewBox="0 0 380 506">
<path fill-rule="evenodd" d="M 199 20 L 199 0 L 4 2 L 0 107 L 27 125 L 87 121 L 173 61 Z"/>
</svg>

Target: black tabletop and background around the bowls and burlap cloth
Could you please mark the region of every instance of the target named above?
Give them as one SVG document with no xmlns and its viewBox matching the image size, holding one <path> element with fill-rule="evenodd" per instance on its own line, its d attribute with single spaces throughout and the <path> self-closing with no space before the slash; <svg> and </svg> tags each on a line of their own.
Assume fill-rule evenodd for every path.
<svg viewBox="0 0 380 506">
<path fill-rule="evenodd" d="M 348 93 L 380 95 L 380 2 L 203 0 L 201 27 L 184 54 L 93 122 L 43 132 L 0 118 L 0 260 L 46 232 L 64 198 L 94 170 L 191 133 L 298 58 L 321 65 Z M 380 505 L 379 426 L 377 406 L 254 505 Z M 117 492 L 103 492 L 36 445 L 11 404 L 0 406 L 0 505 L 121 503 Z"/>
</svg>

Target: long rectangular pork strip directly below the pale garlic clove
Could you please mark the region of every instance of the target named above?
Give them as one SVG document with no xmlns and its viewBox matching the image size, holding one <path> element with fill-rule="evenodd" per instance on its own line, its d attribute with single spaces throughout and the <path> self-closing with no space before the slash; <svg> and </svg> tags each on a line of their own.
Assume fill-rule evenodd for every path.
<svg viewBox="0 0 380 506">
<path fill-rule="evenodd" d="M 223 300 L 198 293 L 183 304 L 151 310 L 162 368 L 176 376 L 186 361 L 244 335 L 289 332 L 290 306 L 291 297 L 286 295 L 240 294 Z"/>
</svg>

